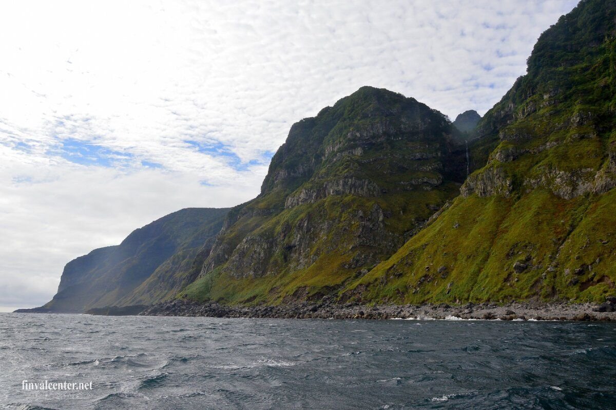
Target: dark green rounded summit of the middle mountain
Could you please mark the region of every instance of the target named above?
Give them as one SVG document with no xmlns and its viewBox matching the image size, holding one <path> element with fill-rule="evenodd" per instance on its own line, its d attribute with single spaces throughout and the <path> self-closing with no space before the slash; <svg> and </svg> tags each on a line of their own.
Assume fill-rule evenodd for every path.
<svg viewBox="0 0 616 410">
<path fill-rule="evenodd" d="M 272 158 L 261 194 L 277 187 L 294 191 L 315 173 L 333 172 L 333 163 L 352 152 L 376 146 L 389 149 L 390 142 L 383 144 L 393 135 L 414 139 L 428 133 L 438 139 L 449 131 L 447 117 L 428 105 L 398 92 L 363 86 L 316 117 L 291 126 L 285 144 Z"/>
</svg>

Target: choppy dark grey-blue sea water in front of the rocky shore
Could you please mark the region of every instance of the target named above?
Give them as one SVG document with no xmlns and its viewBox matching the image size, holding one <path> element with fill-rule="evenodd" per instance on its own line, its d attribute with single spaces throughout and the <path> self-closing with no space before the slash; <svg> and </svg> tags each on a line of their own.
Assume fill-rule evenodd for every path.
<svg viewBox="0 0 616 410">
<path fill-rule="evenodd" d="M 0 408 L 616 409 L 615 337 L 589 322 L 0 314 Z"/>
</svg>

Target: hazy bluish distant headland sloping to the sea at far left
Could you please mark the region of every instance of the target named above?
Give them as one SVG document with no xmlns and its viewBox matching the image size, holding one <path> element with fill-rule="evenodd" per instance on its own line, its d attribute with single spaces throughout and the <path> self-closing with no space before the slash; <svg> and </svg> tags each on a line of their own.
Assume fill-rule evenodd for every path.
<svg viewBox="0 0 616 410">
<path fill-rule="evenodd" d="M 220 231 L 227 211 L 180 210 L 133 231 L 120 245 L 95 249 L 70 261 L 57 294 L 34 311 L 82 313 L 176 296 L 197 277 L 199 260 L 209 253 L 208 240 Z"/>
</svg>

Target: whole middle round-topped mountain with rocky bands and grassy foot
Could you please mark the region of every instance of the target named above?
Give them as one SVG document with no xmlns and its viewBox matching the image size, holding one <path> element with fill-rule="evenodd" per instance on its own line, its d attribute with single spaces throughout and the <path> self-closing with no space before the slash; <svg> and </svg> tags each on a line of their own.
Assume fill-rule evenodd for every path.
<svg viewBox="0 0 616 410">
<path fill-rule="evenodd" d="M 229 213 L 187 296 L 275 302 L 362 275 L 458 194 L 454 132 L 415 99 L 370 87 L 299 121 L 261 195 Z"/>
</svg>

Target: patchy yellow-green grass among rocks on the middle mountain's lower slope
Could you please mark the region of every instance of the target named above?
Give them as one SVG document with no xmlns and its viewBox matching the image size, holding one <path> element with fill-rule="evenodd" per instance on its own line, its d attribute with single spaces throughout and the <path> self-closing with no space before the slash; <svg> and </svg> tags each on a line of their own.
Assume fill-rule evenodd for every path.
<svg viewBox="0 0 616 410">
<path fill-rule="evenodd" d="M 456 192 L 458 186 L 449 183 L 438 190 L 426 192 L 421 195 L 421 199 L 411 195 L 390 195 L 378 199 L 337 195 L 285 210 L 274 218 L 264 221 L 251 234 L 275 237 L 283 226 L 296 226 L 302 219 L 309 219 L 314 224 L 331 221 L 329 234 L 312 245 L 315 256 L 318 255 L 314 263 L 306 268 L 293 269 L 286 264 L 284 255 L 274 255 L 270 261 L 270 270 L 276 274 L 240 279 L 224 271 L 224 266 L 221 266 L 205 277 L 200 277 L 183 293 L 194 300 L 216 300 L 226 303 L 280 303 L 285 297 L 294 294 L 299 298 L 304 295 L 310 297 L 317 293 L 329 293 L 331 289 L 340 287 L 360 270 L 345 268 L 344 264 L 355 255 L 368 250 L 361 246 L 349 248 L 352 236 L 357 232 L 354 229 L 357 227 L 354 225 L 357 224 L 356 216 L 360 210 L 368 213 L 373 205 L 378 203 L 395 215 L 386 221 L 391 231 L 400 231 L 412 228 L 417 221 L 428 219 L 433 211 L 426 205 L 445 203 Z M 323 250 L 326 252 L 322 252 Z M 383 260 L 389 255 L 382 253 L 379 256 Z M 296 292 L 302 294 L 298 295 Z"/>
</svg>

